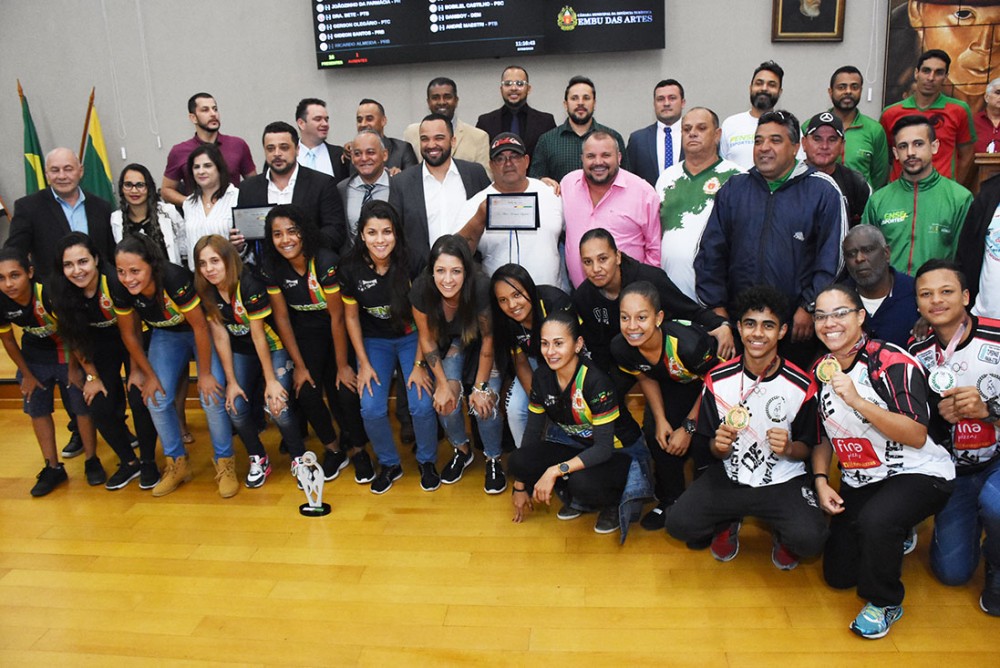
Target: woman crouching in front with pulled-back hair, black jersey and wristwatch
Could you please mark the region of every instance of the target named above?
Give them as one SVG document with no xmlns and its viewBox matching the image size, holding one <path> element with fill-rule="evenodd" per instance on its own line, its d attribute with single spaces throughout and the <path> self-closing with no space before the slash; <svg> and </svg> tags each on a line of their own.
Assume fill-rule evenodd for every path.
<svg viewBox="0 0 1000 668">
<path fill-rule="evenodd" d="M 580 330 L 569 311 L 551 313 L 542 323 L 539 345 L 545 365 L 532 376 L 528 426 L 509 465 L 514 521 L 523 521 L 533 502 L 548 505 L 556 493 L 564 501 L 559 519 L 597 509 L 594 531 L 611 533 L 620 526 L 618 505 L 630 455 L 645 447 L 639 425 L 620 406 L 611 379 L 580 355 Z M 546 418 L 554 425 L 548 432 Z"/>
</svg>

